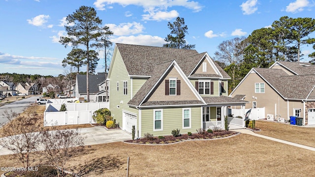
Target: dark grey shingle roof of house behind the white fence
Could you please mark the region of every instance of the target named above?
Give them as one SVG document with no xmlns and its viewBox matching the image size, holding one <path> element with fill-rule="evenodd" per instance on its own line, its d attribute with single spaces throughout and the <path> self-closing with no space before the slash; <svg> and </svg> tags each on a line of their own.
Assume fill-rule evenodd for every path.
<svg viewBox="0 0 315 177">
<path fill-rule="evenodd" d="M 97 75 L 89 75 L 89 91 L 90 94 L 96 94 L 99 92 L 98 84 L 105 78 L 105 73 L 97 73 Z M 87 75 L 77 74 L 78 93 L 87 93 Z"/>
</svg>

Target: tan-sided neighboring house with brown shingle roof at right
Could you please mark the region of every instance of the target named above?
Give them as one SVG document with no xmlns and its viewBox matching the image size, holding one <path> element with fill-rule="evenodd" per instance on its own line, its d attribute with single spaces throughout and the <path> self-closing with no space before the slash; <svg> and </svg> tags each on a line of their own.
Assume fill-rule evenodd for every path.
<svg viewBox="0 0 315 177">
<path fill-rule="evenodd" d="M 277 61 L 269 68 L 252 68 L 231 96 L 251 102 L 246 108 L 265 108 L 265 118 L 303 118 L 315 125 L 315 65 Z"/>
</svg>

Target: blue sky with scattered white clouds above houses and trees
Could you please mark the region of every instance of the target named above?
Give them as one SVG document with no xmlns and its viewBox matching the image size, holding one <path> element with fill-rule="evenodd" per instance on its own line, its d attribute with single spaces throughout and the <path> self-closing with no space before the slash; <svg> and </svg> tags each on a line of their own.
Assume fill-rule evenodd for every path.
<svg viewBox="0 0 315 177">
<path fill-rule="evenodd" d="M 282 16 L 315 18 L 313 0 L 0 0 L 0 73 L 65 74 L 62 60 L 71 47 L 58 41 L 66 35 L 65 17 L 81 5 L 95 8 L 114 43 L 162 46 L 167 23 L 183 17 L 186 41 L 211 57 L 222 41 L 248 36 Z M 302 48 L 306 56 L 311 52 L 311 46 Z M 100 58 L 96 72 L 104 70 Z"/>
</svg>

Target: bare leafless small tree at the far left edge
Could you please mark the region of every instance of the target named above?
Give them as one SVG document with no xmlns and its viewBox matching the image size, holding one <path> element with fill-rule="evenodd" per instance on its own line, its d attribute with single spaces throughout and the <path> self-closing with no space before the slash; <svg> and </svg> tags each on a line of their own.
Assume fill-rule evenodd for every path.
<svg viewBox="0 0 315 177">
<path fill-rule="evenodd" d="M 0 145 L 11 150 L 14 156 L 28 168 L 34 160 L 32 151 L 37 150 L 39 136 L 37 132 L 40 124 L 36 118 L 27 116 L 17 117 L 15 112 L 4 111 L 4 118 L 9 120 L 6 125 L 2 124 L 0 134 L 5 137 L 0 139 Z M 17 118 L 16 118 L 17 117 Z"/>
</svg>

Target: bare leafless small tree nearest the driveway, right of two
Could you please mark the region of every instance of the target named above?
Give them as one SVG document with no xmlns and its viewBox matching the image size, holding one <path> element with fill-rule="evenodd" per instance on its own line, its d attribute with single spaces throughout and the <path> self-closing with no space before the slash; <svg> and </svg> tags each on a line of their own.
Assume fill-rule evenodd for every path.
<svg viewBox="0 0 315 177">
<path fill-rule="evenodd" d="M 44 148 L 40 153 L 56 169 L 58 177 L 63 176 L 66 162 L 84 148 L 84 138 L 77 129 L 43 131 L 40 140 Z"/>
</svg>

